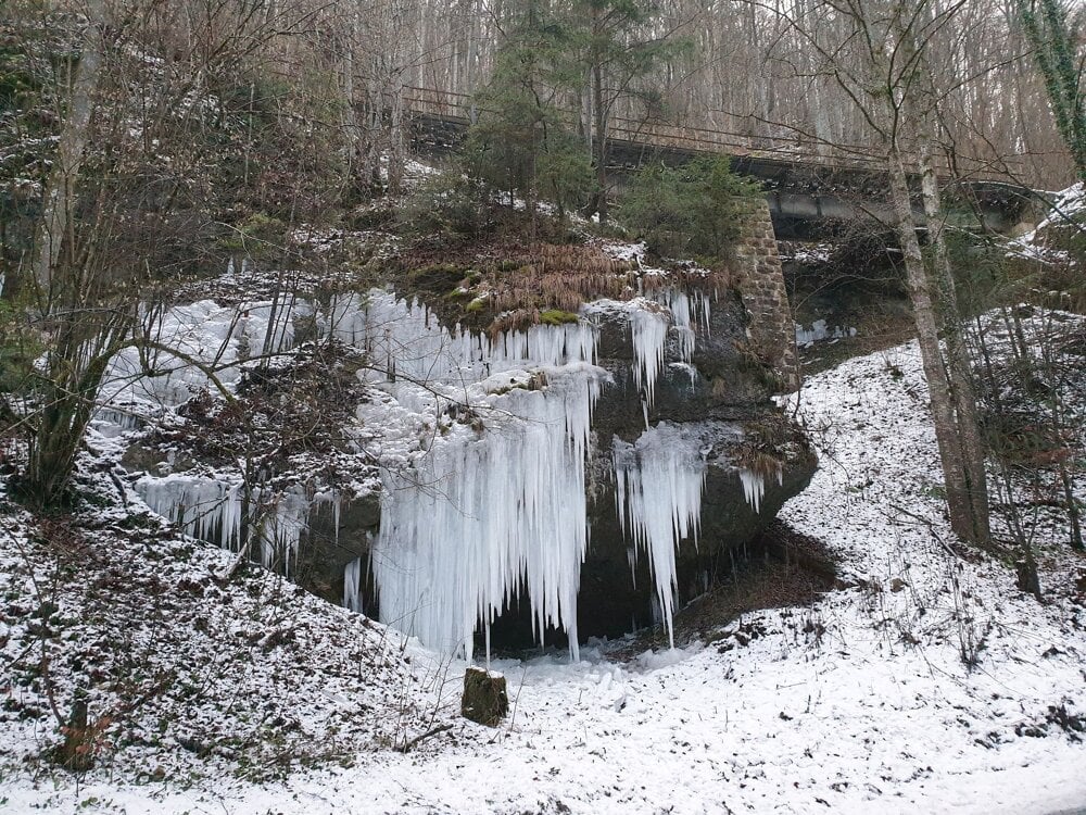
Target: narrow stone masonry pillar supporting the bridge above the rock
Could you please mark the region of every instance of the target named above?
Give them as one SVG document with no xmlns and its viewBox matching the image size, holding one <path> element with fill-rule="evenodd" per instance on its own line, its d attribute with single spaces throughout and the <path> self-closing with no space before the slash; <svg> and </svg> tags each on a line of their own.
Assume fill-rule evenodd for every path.
<svg viewBox="0 0 1086 815">
<path fill-rule="evenodd" d="M 784 288 L 773 221 L 765 200 L 759 200 L 745 221 L 735 254 L 740 294 L 750 314 L 750 350 L 773 367 L 784 388 L 796 390 L 799 387 L 796 327 Z"/>
</svg>

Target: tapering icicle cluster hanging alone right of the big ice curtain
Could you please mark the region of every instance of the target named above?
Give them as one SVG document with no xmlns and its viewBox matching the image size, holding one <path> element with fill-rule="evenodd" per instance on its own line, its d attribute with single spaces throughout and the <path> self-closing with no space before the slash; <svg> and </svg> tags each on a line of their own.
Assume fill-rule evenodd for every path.
<svg viewBox="0 0 1086 815">
<path fill-rule="evenodd" d="M 706 461 L 700 448 L 697 437 L 669 422 L 646 430 L 632 444 L 618 437 L 613 442 L 619 521 L 623 534 L 648 555 L 656 600 L 672 647 L 675 551 L 684 539 L 697 542 L 702 517 Z"/>
</svg>

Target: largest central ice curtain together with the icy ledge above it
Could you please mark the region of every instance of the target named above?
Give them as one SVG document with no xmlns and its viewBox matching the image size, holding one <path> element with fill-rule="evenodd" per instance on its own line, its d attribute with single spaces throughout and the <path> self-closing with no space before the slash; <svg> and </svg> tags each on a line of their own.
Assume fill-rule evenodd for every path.
<svg viewBox="0 0 1086 815">
<path fill-rule="evenodd" d="M 377 389 L 358 416 L 379 428 L 365 443 L 383 465 L 372 547 L 381 618 L 470 657 L 478 620 L 489 624 L 523 591 L 538 635 L 565 629 L 576 654 L 584 460 L 606 376 L 592 364 L 594 327 L 490 339 L 370 292 L 337 306 L 331 330 L 366 349 Z"/>
</svg>

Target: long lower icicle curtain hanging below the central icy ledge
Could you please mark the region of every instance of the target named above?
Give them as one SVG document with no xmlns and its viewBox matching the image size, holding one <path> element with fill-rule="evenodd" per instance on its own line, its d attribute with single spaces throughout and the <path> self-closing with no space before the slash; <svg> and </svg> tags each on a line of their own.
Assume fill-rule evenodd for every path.
<svg viewBox="0 0 1086 815">
<path fill-rule="evenodd" d="M 374 576 L 381 618 L 470 657 L 521 590 L 534 628 L 569 634 L 588 544 L 584 456 L 599 372 L 552 368 L 545 390 L 480 406 L 484 429 L 434 439 L 417 468 L 387 473 Z M 465 432 L 466 429 L 466 432 Z"/>
</svg>

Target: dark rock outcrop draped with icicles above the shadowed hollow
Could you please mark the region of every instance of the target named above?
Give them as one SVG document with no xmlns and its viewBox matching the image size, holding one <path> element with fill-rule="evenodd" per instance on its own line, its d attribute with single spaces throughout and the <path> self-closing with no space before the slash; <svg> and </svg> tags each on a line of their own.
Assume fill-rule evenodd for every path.
<svg viewBox="0 0 1086 815">
<path fill-rule="evenodd" d="M 816 467 L 731 290 L 656 289 L 491 338 L 391 292 L 327 315 L 326 336 L 365 355 L 365 393 L 349 431 L 278 471 L 290 500 L 263 560 L 438 649 L 470 656 L 480 623 L 494 647 L 557 632 L 574 653 L 670 625 Z M 157 471 L 137 482 L 153 509 L 237 548 L 244 491 L 206 462 L 178 473 L 192 457 L 172 450 L 172 472 L 128 461 Z M 330 484 L 337 466 L 363 488 Z"/>
</svg>

